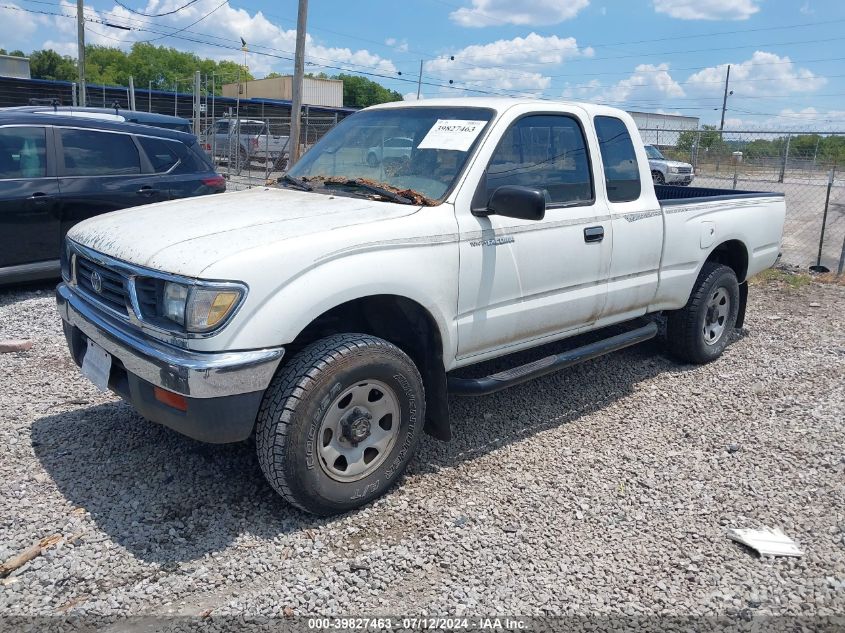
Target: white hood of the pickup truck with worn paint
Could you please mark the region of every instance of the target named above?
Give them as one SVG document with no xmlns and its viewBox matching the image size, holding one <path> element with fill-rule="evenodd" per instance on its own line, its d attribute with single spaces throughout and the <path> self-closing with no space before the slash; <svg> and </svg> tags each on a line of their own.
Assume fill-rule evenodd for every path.
<svg viewBox="0 0 845 633">
<path fill-rule="evenodd" d="M 418 211 L 317 192 L 256 188 L 115 211 L 74 226 L 68 238 L 154 270 L 200 277 L 225 257 L 294 238 Z"/>
</svg>

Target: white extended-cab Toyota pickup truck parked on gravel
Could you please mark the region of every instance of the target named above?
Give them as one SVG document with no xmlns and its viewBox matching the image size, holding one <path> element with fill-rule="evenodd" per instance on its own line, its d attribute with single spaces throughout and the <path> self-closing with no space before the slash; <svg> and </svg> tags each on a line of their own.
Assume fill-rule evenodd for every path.
<svg viewBox="0 0 845 633">
<path fill-rule="evenodd" d="M 407 157 L 361 160 L 390 138 L 413 139 Z M 328 515 L 384 493 L 423 430 L 449 439 L 450 393 L 652 338 L 643 317 L 658 313 L 677 357 L 717 358 L 784 213 L 778 193 L 655 191 L 614 108 L 393 103 L 344 120 L 276 187 L 76 225 L 57 300 L 101 389 L 198 440 L 254 433 L 271 485 Z M 454 374 L 614 324 L 528 365 Z"/>
</svg>

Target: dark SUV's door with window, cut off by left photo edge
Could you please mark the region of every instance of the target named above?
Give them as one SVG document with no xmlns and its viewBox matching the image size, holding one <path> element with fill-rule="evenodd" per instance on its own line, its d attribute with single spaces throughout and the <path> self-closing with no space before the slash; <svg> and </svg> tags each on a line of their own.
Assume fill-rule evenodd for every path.
<svg viewBox="0 0 845 633">
<path fill-rule="evenodd" d="M 59 259 L 53 129 L 0 127 L 0 268 Z"/>
</svg>

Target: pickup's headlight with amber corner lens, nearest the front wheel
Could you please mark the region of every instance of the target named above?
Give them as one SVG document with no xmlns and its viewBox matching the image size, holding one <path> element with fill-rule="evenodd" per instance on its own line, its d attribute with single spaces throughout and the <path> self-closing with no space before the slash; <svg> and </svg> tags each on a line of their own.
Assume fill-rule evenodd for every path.
<svg viewBox="0 0 845 633">
<path fill-rule="evenodd" d="M 206 287 L 165 282 L 161 316 L 188 332 L 208 332 L 223 323 L 243 297 L 237 287 Z"/>
</svg>

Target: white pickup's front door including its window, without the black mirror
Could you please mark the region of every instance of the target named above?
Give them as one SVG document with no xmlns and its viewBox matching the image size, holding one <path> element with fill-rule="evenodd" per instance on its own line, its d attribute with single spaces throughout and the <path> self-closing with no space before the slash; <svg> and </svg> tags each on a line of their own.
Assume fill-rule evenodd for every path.
<svg viewBox="0 0 845 633">
<path fill-rule="evenodd" d="M 593 323 L 602 311 L 611 223 L 596 202 L 578 119 L 518 119 L 493 153 L 474 204 L 502 185 L 540 189 L 541 221 L 458 211 L 458 356 L 507 351 Z M 588 230 L 589 229 L 589 230 Z"/>
</svg>

